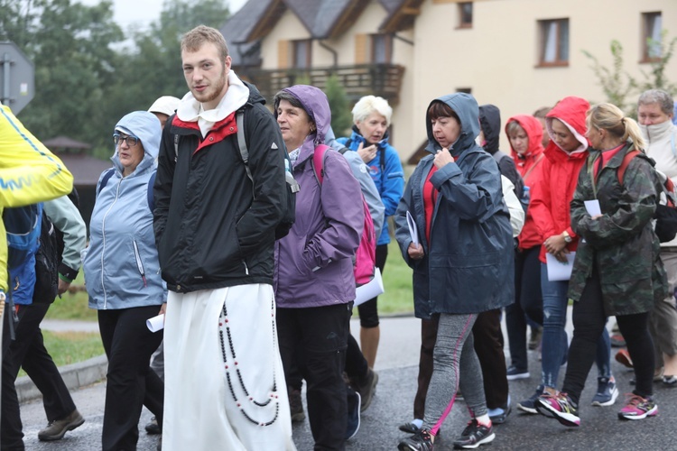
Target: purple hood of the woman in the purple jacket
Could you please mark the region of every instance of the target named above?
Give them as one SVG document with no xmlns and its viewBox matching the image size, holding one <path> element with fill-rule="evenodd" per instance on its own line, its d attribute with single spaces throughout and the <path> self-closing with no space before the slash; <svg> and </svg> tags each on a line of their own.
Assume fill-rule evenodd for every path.
<svg viewBox="0 0 677 451">
<path fill-rule="evenodd" d="M 303 109 L 311 116 L 311 120 L 315 123 L 317 130 L 315 133 L 309 134 L 305 141 L 301 144 L 301 153 L 297 164 L 308 158 L 315 150 L 315 147 L 324 143 L 325 137 L 329 132 L 331 126 L 331 110 L 329 109 L 329 100 L 327 96 L 317 87 L 308 85 L 294 85 L 292 87 L 285 87 L 283 91 L 291 94 L 299 102 Z M 277 111 L 274 113 L 277 118 Z M 293 149 L 291 149 L 293 150 Z"/>
</svg>

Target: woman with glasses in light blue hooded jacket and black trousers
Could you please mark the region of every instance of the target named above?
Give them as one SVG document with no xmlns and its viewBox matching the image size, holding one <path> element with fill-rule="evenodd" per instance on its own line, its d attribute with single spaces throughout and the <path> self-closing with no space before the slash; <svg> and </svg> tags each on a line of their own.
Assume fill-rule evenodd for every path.
<svg viewBox="0 0 677 451">
<path fill-rule="evenodd" d="M 162 425 L 162 381 L 150 358 L 162 341 L 145 325 L 163 308 L 153 234 L 153 180 L 160 147 L 160 121 L 135 111 L 116 124 L 114 168 L 101 174 L 83 252 L 89 307 L 108 357 L 103 449 L 135 449 L 142 406 Z"/>
</svg>

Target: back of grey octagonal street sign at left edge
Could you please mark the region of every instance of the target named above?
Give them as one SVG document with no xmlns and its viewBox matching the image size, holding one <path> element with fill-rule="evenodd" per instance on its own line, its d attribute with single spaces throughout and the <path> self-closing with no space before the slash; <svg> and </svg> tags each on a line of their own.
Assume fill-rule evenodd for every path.
<svg viewBox="0 0 677 451">
<path fill-rule="evenodd" d="M 14 115 L 19 114 L 35 95 L 35 77 L 31 60 L 26 58 L 14 42 L 0 42 L 0 71 L 3 105 L 9 106 Z"/>
</svg>

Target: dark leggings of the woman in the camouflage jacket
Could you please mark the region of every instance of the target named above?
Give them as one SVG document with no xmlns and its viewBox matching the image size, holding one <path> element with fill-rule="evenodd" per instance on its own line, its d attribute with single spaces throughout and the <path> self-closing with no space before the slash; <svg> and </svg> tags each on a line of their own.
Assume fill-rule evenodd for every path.
<svg viewBox="0 0 677 451">
<path fill-rule="evenodd" d="M 651 396 L 654 393 L 654 342 L 649 335 L 649 312 L 619 315 L 616 320 L 635 367 L 636 385 L 633 392 L 643 398 Z M 577 404 L 595 362 L 599 336 L 606 322 L 599 274 L 595 268 L 579 301 L 573 305 L 573 339 L 569 347 L 567 374 L 561 389 Z"/>
</svg>

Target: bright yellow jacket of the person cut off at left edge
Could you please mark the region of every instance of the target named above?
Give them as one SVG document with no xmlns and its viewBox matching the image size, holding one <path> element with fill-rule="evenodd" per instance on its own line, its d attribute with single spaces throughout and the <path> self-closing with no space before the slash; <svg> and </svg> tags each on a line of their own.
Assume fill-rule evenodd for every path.
<svg viewBox="0 0 677 451">
<path fill-rule="evenodd" d="M 73 189 L 73 176 L 63 162 L 0 104 L 0 216 L 5 207 L 23 207 L 60 198 Z M 0 221 L 0 336 L 5 323 L 7 235 Z M 6 343 L 5 343 L 6 342 Z M 3 340 L 3 354 L 9 340 Z"/>
</svg>

